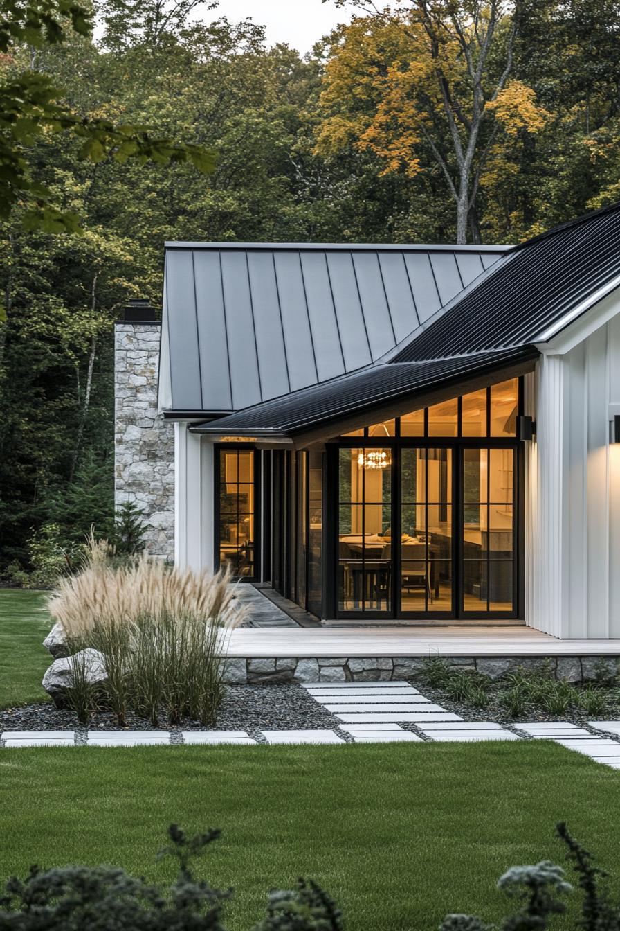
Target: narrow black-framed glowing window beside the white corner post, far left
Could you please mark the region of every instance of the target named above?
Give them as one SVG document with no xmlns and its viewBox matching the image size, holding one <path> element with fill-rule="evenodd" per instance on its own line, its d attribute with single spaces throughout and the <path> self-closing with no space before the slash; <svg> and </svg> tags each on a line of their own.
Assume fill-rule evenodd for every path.
<svg viewBox="0 0 620 931">
<path fill-rule="evenodd" d="M 256 563 L 254 450 L 219 451 L 219 564 L 253 578 Z"/>
</svg>

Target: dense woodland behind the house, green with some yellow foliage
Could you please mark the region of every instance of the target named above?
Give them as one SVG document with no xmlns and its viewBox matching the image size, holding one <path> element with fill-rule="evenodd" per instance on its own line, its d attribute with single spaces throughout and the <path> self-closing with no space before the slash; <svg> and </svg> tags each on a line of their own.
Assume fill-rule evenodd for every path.
<svg viewBox="0 0 620 931">
<path fill-rule="evenodd" d="M 165 239 L 511 243 L 620 190 L 618 0 L 358 3 L 304 58 L 195 0 L 103 0 L 96 39 L 90 7 L 11 3 L 0 572 L 63 509 L 85 523 L 72 539 L 87 510 L 105 522 L 112 322 L 160 302 Z M 42 102 L 21 90 L 31 115 L 11 115 L 26 78 Z"/>
</svg>

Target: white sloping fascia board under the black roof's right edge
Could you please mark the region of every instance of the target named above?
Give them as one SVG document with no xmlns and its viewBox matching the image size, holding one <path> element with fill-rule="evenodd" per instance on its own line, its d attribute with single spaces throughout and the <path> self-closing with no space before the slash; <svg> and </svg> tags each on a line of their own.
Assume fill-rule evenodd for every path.
<svg viewBox="0 0 620 931">
<path fill-rule="evenodd" d="M 534 340 L 543 355 L 563 356 L 620 314 L 620 276 L 608 281 Z"/>
</svg>

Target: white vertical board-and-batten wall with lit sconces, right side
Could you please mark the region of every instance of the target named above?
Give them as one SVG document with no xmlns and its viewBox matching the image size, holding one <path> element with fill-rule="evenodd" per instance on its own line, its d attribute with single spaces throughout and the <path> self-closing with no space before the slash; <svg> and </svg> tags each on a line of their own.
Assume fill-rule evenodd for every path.
<svg viewBox="0 0 620 931">
<path fill-rule="evenodd" d="M 550 344 L 526 379 L 526 621 L 555 637 L 620 638 L 620 295 Z"/>
</svg>

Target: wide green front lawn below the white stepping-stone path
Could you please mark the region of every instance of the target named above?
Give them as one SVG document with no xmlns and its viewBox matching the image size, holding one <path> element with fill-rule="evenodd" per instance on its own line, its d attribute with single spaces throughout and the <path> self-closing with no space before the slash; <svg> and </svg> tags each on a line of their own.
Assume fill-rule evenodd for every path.
<svg viewBox="0 0 620 931">
<path fill-rule="evenodd" d="M 171 879 L 155 854 L 177 821 L 223 830 L 198 871 L 235 887 L 232 931 L 299 875 L 336 897 L 348 931 L 435 931 L 451 911 L 493 921 L 513 906 L 497 877 L 562 862 L 559 820 L 620 875 L 619 790 L 620 772 L 541 741 L 5 749 L 0 877 L 108 862 Z"/>
</svg>

